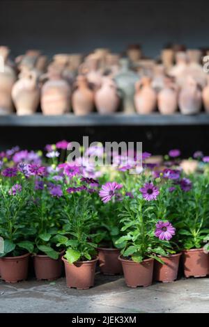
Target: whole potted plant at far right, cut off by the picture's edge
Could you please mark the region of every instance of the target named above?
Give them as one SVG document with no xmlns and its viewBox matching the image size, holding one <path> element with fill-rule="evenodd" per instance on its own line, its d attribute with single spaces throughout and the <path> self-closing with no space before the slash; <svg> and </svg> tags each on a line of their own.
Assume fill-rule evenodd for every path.
<svg viewBox="0 0 209 327">
<path fill-rule="evenodd" d="M 185 277 L 208 275 L 209 261 L 206 242 L 209 234 L 209 182 L 207 175 L 184 177 L 176 188 L 178 207 L 176 228 L 183 250 Z"/>
</svg>

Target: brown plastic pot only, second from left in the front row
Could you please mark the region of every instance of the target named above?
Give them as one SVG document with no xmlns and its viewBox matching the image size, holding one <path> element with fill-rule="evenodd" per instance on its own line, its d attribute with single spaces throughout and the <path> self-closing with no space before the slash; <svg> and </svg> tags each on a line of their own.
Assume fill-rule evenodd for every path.
<svg viewBox="0 0 209 327">
<path fill-rule="evenodd" d="M 62 260 L 61 257 L 65 253 L 62 251 L 59 259 L 54 260 L 47 255 L 34 255 L 33 265 L 35 269 L 37 280 L 56 280 L 62 273 Z"/>
</svg>

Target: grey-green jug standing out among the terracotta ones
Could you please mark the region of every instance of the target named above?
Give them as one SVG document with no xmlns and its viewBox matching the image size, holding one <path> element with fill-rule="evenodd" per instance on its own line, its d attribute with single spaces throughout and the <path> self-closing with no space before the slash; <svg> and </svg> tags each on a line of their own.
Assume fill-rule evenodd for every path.
<svg viewBox="0 0 209 327">
<path fill-rule="evenodd" d="M 114 80 L 123 95 L 123 109 L 125 113 L 134 113 L 135 83 L 139 80 L 139 75 L 130 70 L 130 61 L 128 59 L 121 59 L 120 64 L 121 70 L 116 74 Z"/>
</svg>

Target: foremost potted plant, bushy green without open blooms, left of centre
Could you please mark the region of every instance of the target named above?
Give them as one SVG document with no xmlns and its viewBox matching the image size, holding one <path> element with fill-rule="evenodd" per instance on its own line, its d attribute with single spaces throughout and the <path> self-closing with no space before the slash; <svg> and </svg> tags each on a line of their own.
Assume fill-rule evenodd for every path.
<svg viewBox="0 0 209 327">
<path fill-rule="evenodd" d="M 67 248 L 62 259 L 68 287 L 88 289 L 94 285 L 95 266 L 98 262 L 96 248 L 92 242 L 97 212 L 91 202 L 90 189 L 72 186 L 65 191 L 63 207 L 63 230 Z"/>
</svg>

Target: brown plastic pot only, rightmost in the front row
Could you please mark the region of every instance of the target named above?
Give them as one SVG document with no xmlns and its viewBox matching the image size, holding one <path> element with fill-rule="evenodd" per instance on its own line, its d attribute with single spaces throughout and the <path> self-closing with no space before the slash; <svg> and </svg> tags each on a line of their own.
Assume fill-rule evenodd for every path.
<svg viewBox="0 0 209 327">
<path fill-rule="evenodd" d="M 183 250 L 183 266 L 185 277 L 205 277 L 209 272 L 208 253 L 203 248 Z"/>
</svg>

